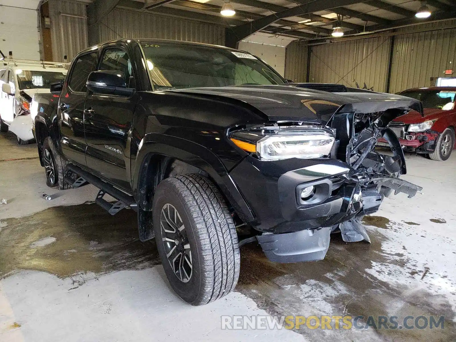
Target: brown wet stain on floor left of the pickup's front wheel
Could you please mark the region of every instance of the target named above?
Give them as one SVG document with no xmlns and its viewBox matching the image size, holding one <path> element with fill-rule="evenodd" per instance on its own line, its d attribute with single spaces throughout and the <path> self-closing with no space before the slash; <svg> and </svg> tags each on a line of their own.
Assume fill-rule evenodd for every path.
<svg viewBox="0 0 456 342">
<path fill-rule="evenodd" d="M 114 217 L 97 204 L 52 207 L 3 220 L 0 279 L 16 270 L 32 269 L 73 277 L 73 284 L 79 286 L 83 277 L 75 275 L 159 264 L 155 240 L 139 241 L 136 220 L 133 210 Z"/>
</svg>

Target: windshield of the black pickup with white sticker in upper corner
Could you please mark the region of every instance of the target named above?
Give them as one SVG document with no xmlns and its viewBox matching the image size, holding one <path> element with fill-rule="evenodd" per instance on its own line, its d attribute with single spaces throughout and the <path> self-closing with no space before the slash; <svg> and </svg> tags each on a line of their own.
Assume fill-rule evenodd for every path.
<svg viewBox="0 0 456 342">
<path fill-rule="evenodd" d="M 141 46 L 155 90 L 285 83 L 274 69 L 249 53 L 172 43 Z"/>
</svg>

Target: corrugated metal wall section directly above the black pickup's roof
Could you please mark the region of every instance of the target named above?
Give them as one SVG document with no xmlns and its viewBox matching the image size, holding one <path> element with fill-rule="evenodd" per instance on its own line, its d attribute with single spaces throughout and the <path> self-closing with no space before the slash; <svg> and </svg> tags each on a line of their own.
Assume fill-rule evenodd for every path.
<svg viewBox="0 0 456 342">
<path fill-rule="evenodd" d="M 99 37 L 100 41 L 162 38 L 224 45 L 225 29 L 222 25 L 116 8 L 102 21 Z"/>
</svg>

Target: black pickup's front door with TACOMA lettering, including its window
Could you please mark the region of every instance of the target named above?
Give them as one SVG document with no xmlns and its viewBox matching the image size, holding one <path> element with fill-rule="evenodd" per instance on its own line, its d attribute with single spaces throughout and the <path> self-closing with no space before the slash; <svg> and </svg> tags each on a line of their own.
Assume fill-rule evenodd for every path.
<svg viewBox="0 0 456 342">
<path fill-rule="evenodd" d="M 111 45 L 101 53 L 98 70 L 123 72 L 127 87 L 135 88 L 126 47 Z M 131 191 L 130 130 L 138 96 L 88 93 L 84 109 L 87 166 L 102 178 Z"/>
</svg>

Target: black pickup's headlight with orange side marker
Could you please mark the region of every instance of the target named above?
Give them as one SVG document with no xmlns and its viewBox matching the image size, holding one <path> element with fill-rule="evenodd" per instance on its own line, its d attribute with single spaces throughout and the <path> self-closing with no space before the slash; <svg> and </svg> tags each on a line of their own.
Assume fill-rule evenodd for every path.
<svg viewBox="0 0 456 342">
<path fill-rule="evenodd" d="M 331 153 L 335 141 L 330 130 L 302 127 L 238 130 L 231 133 L 229 138 L 239 148 L 253 152 L 264 161 L 325 157 Z"/>
</svg>

